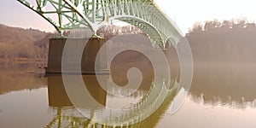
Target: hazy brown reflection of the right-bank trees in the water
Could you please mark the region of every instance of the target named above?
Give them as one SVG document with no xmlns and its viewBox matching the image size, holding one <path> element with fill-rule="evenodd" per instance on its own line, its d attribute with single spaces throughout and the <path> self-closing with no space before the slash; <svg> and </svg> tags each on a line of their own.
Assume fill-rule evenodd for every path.
<svg viewBox="0 0 256 128">
<path fill-rule="evenodd" d="M 256 67 L 253 64 L 197 64 L 190 89 L 194 102 L 231 108 L 255 107 Z"/>
</svg>

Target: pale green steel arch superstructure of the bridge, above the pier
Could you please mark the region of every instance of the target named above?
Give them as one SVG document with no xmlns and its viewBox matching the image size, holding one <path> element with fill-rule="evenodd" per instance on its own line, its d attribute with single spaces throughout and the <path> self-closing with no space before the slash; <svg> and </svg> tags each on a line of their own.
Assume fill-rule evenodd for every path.
<svg viewBox="0 0 256 128">
<path fill-rule="evenodd" d="M 62 34 L 74 27 L 96 31 L 110 20 L 121 20 L 145 32 L 154 47 L 166 41 L 177 46 L 181 32 L 154 0 L 17 0 L 55 26 Z"/>
</svg>

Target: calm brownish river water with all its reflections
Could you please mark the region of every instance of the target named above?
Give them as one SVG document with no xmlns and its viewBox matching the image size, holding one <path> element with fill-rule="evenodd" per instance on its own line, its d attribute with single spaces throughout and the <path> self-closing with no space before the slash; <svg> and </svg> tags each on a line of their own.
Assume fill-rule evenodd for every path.
<svg viewBox="0 0 256 128">
<path fill-rule="evenodd" d="M 73 108 L 61 76 L 44 77 L 44 64 L 0 64 L 0 127 L 93 127 Z M 125 72 L 113 81 L 126 84 Z M 119 97 L 99 88 L 95 76 L 83 76 L 92 96 L 108 108 L 127 108 L 150 91 L 152 76 L 143 73 L 139 90 Z M 172 79 L 178 83 L 178 74 Z M 171 114 L 172 96 L 147 119 L 130 127 L 256 127 L 256 65 L 197 64 L 189 98 Z M 105 76 L 108 80 L 109 76 Z M 113 92 L 119 90 L 111 89 Z M 94 93 L 96 92 L 96 93 Z M 102 125 L 97 125 L 103 127 Z"/>
</svg>

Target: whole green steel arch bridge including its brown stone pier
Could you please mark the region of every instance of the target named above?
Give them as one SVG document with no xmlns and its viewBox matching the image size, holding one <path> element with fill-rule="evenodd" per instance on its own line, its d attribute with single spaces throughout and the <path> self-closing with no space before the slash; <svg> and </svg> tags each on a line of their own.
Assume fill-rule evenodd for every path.
<svg viewBox="0 0 256 128">
<path fill-rule="evenodd" d="M 49 57 L 46 73 L 64 73 L 61 69 L 62 54 L 67 43 L 63 32 L 73 28 L 90 30 L 90 39 L 84 37 L 73 39 L 73 45 L 84 48 L 81 61 L 81 71 L 84 74 L 95 74 L 96 54 L 106 42 L 104 37 L 97 35 L 97 30 L 112 20 L 120 20 L 137 26 L 149 38 L 153 48 L 166 49 L 177 47 L 183 36 L 175 24 L 166 16 L 153 0 L 17 0 L 38 15 L 44 17 L 56 31 L 57 38 L 49 39 Z M 69 38 L 70 39 L 70 38 Z M 80 42 L 80 43 L 78 43 Z M 73 49 L 73 51 L 77 51 Z M 75 54 L 75 53 L 73 53 Z M 72 58 L 73 56 L 66 56 Z M 69 61 L 68 63 L 76 63 Z M 106 66 L 99 68 L 102 73 L 108 73 Z M 107 69 L 107 70 L 105 70 Z M 68 69 L 67 73 L 78 73 L 78 69 Z M 107 71 L 107 72 L 105 72 Z"/>
</svg>

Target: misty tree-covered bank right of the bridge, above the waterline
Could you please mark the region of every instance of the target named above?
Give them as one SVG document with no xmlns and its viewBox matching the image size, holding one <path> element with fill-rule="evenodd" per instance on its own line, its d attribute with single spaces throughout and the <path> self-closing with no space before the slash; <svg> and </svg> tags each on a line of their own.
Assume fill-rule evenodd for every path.
<svg viewBox="0 0 256 128">
<path fill-rule="evenodd" d="M 256 26 L 245 19 L 195 23 L 187 38 L 195 62 L 256 62 Z"/>
</svg>

